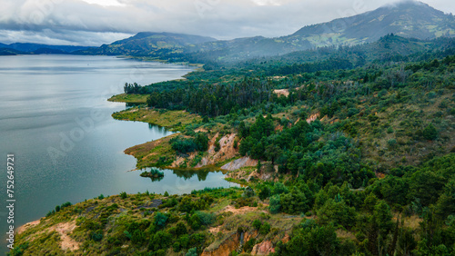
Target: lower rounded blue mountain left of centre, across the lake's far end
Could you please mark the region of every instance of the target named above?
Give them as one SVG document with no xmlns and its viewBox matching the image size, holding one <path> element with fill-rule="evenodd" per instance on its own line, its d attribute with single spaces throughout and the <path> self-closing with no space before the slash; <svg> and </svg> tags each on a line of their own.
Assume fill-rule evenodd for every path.
<svg viewBox="0 0 455 256">
<path fill-rule="evenodd" d="M 217 39 L 193 34 L 141 32 L 99 48 L 78 51 L 77 54 L 162 55 L 179 53 L 185 46 L 213 41 Z"/>
</svg>

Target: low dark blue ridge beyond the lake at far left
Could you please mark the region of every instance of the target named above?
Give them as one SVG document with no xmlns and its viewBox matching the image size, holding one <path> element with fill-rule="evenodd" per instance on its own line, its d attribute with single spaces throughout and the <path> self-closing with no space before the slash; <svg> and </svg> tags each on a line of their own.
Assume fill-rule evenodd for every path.
<svg viewBox="0 0 455 256">
<path fill-rule="evenodd" d="M 75 51 L 84 50 L 86 46 L 73 46 L 73 45 L 49 45 L 49 44 L 31 44 L 31 43 L 14 43 L 14 44 L 1 44 L 0 48 L 3 49 L 2 53 L 15 53 L 15 54 L 71 54 Z M 2 54 L 5 55 L 5 54 Z"/>
</svg>

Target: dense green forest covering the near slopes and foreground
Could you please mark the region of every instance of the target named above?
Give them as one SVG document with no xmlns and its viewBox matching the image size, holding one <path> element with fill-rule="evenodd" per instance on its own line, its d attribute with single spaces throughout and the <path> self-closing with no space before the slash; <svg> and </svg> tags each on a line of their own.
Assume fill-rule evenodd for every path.
<svg viewBox="0 0 455 256">
<path fill-rule="evenodd" d="M 237 157 L 258 160 L 245 170 L 269 178 L 96 198 L 59 207 L 48 222 L 78 216 L 81 248 L 106 255 L 209 255 L 236 239 L 230 255 L 266 242 L 271 255 L 453 255 L 454 42 L 388 35 L 235 66 L 206 60 L 186 79 L 126 84 L 126 94 L 147 94 L 142 108 L 202 117 L 169 139 L 169 150 L 204 155 L 212 138 L 235 133 Z M 140 210 L 150 200 L 159 206 Z M 36 248 L 24 241 L 11 254 Z"/>
</svg>

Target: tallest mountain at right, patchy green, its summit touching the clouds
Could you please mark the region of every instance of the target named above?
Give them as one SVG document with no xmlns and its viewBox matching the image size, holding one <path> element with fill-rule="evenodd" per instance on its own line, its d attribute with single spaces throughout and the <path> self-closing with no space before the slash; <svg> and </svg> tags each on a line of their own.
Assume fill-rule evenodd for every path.
<svg viewBox="0 0 455 256">
<path fill-rule="evenodd" d="M 418 39 L 451 37 L 455 35 L 455 17 L 445 15 L 427 4 L 404 1 L 328 23 L 308 25 L 282 39 L 296 44 L 309 42 L 320 46 L 373 42 L 386 34 Z"/>
</svg>

